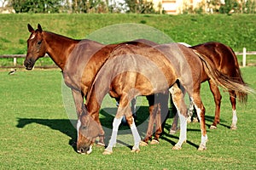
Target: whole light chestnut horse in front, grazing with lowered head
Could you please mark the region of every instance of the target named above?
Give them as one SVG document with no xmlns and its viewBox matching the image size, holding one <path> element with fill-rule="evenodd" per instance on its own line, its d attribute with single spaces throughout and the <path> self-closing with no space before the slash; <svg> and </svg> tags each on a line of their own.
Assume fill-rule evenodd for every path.
<svg viewBox="0 0 256 170">
<path fill-rule="evenodd" d="M 225 77 L 217 71 L 211 60 L 177 43 L 155 47 L 122 44 L 115 48 L 97 73 L 90 92 L 87 94 L 86 108 L 85 106 L 82 108 L 83 113 L 78 121 L 78 152 L 90 153 L 96 136 L 103 133 L 98 117 L 102 99 L 106 94 L 119 99 L 119 107 L 113 119 L 111 139 L 103 154 L 113 153 L 113 145 L 116 143 L 122 116 L 126 116 L 133 134 L 134 146 L 131 151 L 138 152 L 140 136 L 131 116 L 131 99 L 137 95 L 148 96 L 162 93 L 168 88 L 171 88 L 172 100 L 177 107 L 181 125 L 179 140 L 172 149 L 181 149 L 183 142 L 187 139 L 187 108 L 183 99 L 183 91 L 177 86 L 177 82 L 183 86 L 194 102 L 201 120 L 201 144 L 198 150 L 206 150 L 207 130 L 205 107 L 200 96 L 201 77 L 211 77 L 215 83 L 226 89 L 239 89 L 243 92 L 251 90 L 230 77 Z"/>
</svg>

